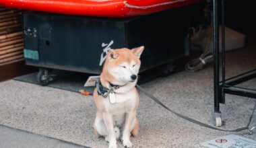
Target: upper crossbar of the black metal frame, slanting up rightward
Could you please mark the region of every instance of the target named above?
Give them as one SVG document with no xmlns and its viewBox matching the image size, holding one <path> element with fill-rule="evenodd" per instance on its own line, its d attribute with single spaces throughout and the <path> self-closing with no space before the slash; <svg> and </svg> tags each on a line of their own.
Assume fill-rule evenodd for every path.
<svg viewBox="0 0 256 148">
<path fill-rule="evenodd" d="M 253 73 L 254 72 L 254 73 Z M 239 83 L 243 83 L 245 81 L 249 81 L 250 79 L 253 79 L 256 77 L 256 71 L 253 71 L 251 73 L 246 73 L 246 75 L 241 75 L 240 77 L 234 77 L 234 79 L 229 79 L 226 84 L 227 85 L 237 85 Z"/>
</svg>

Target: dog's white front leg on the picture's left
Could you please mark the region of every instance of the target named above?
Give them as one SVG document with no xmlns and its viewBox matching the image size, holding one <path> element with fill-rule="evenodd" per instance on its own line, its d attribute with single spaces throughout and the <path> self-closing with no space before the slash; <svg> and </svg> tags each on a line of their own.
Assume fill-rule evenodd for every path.
<svg viewBox="0 0 256 148">
<path fill-rule="evenodd" d="M 108 131 L 108 148 L 116 148 L 117 147 L 117 139 L 115 137 L 114 124 L 113 124 L 113 116 L 108 114 L 108 112 L 103 112 L 103 120 L 106 125 L 106 130 Z"/>
</svg>

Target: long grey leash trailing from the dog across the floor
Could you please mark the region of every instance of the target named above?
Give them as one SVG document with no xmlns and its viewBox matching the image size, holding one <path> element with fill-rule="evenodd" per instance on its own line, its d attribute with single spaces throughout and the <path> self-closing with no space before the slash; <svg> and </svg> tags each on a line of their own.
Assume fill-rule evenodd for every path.
<svg viewBox="0 0 256 148">
<path fill-rule="evenodd" d="M 210 126 L 210 125 L 205 124 L 205 123 L 203 123 L 203 122 L 199 122 L 199 121 L 197 121 L 197 120 L 195 120 L 195 119 L 193 119 L 193 118 L 189 118 L 189 117 L 184 116 L 184 115 L 182 115 L 182 114 L 179 114 L 179 113 L 177 113 L 177 112 L 174 112 L 173 110 L 170 110 L 170 108 L 168 108 L 167 106 L 165 106 L 162 102 L 160 102 L 160 100 L 158 100 L 158 99 L 157 99 L 156 97 L 154 97 L 152 94 L 148 93 L 148 91 L 146 91 L 145 89 L 143 89 L 142 87 L 140 87 L 140 86 L 137 85 L 137 84 L 136 84 L 136 86 L 137 86 L 137 88 L 140 89 L 144 94 L 146 94 L 146 96 L 148 96 L 149 98 L 151 98 L 152 100 L 154 100 L 154 102 L 156 102 L 156 103 L 159 104 L 160 106 L 166 108 L 166 110 L 172 112 L 173 114 L 176 114 L 177 116 L 179 116 L 179 117 L 181 117 L 181 118 L 183 118 L 183 119 L 185 119 L 185 120 L 188 120 L 189 122 L 193 122 L 193 123 L 198 124 L 198 125 L 200 125 L 200 126 L 204 126 L 204 127 L 206 127 L 206 128 L 211 128 L 211 129 L 218 130 L 218 131 L 226 131 L 226 132 L 240 132 L 240 131 L 244 131 L 244 130 L 249 130 L 249 134 L 251 134 L 253 128 L 255 128 L 255 126 L 254 126 L 253 128 L 250 129 L 250 128 L 249 128 L 249 125 L 250 125 L 250 123 L 251 123 L 251 119 L 253 118 L 253 113 L 254 113 L 254 110 L 255 110 L 255 107 L 256 107 L 256 102 L 255 102 L 255 105 L 254 105 L 254 108 L 253 108 L 253 112 L 252 112 L 252 114 L 251 114 L 251 116 L 250 116 L 249 123 L 247 124 L 247 126 L 245 126 L 245 127 L 243 127 L 243 128 L 237 128 L 237 129 L 235 129 L 235 130 L 224 130 L 224 129 L 216 128 L 216 127 L 214 127 L 214 126 Z"/>
</svg>

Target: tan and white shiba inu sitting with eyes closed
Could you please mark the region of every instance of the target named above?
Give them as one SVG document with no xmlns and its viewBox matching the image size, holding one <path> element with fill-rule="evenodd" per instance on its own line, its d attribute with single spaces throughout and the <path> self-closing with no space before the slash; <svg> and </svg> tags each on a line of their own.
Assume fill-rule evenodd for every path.
<svg viewBox="0 0 256 148">
<path fill-rule="evenodd" d="M 143 50 L 144 46 L 108 50 L 100 81 L 96 83 L 94 132 L 97 137 L 105 137 L 109 148 L 117 147 L 120 137 L 124 147 L 132 147 L 130 137 L 138 135 L 139 95 L 135 85 Z"/>
</svg>

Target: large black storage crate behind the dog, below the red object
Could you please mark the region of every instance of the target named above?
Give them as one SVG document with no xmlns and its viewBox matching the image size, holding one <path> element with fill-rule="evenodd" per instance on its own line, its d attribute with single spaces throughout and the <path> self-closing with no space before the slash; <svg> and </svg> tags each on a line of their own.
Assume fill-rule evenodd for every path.
<svg viewBox="0 0 256 148">
<path fill-rule="evenodd" d="M 141 71 L 145 71 L 185 55 L 188 7 L 122 19 L 26 12 L 26 64 L 99 74 L 104 49 L 143 45 Z"/>
</svg>

